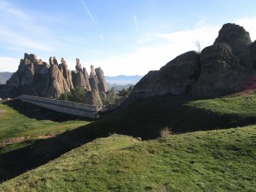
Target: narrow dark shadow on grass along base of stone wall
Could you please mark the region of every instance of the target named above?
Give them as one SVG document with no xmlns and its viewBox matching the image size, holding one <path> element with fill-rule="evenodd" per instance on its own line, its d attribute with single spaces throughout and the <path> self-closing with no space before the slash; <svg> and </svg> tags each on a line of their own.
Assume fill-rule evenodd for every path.
<svg viewBox="0 0 256 192">
<path fill-rule="evenodd" d="M 91 120 L 88 118 L 78 117 L 72 114 L 58 113 L 47 108 L 41 108 L 28 102 L 21 102 L 20 100 L 11 100 L 3 102 L 4 105 L 13 108 L 15 111 L 25 115 L 31 119 L 37 120 L 51 120 L 55 122 L 65 122 L 69 120 Z"/>
</svg>

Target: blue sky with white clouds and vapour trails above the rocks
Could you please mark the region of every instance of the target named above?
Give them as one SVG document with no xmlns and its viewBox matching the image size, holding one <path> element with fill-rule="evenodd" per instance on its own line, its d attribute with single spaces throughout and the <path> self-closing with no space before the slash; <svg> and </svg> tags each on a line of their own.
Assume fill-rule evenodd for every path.
<svg viewBox="0 0 256 192">
<path fill-rule="evenodd" d="M 256 1 L 0 0 L 0 72 L 24 53 L 75 67 L 79 58 L 105 75 L 143 75 L 177 55 L 211 45 L 224 23 L 256 38 Z"/>
</svg>

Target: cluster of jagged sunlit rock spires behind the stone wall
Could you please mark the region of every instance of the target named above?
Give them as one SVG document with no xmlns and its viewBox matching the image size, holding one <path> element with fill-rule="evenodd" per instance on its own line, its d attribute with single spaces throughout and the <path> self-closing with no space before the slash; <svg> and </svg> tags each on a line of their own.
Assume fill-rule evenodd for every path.
<svg viewBox="0 0 256 192">
<path fill-rule="evenodd" d="M 99 71 L 99 79 L 97 79 L 94 67 L 91 68 L 90 73 L 92 75 L 90 77 L 86 69 L 82 68 L 79 59 L 76 60 L 76 70 L 71 72 L 68 70 L 64 58 L 61 58 L 59 64 L 55 57 L 50 57 L 48 64 L 38 60 L 36 55 L 25 54 L 24 59 L 20 60 L 17 72 L 13 74 L 5 89 L 2 90 L 1 96 L 15 97 L 26 94 L 56 99 L 61 96 L 61 93 L 73 90 L 76 87 L 82 87 L 84 91 L 91 91 L 93 88 L 105 93 L 108 91 L 108 87 L 102 69 Z M 91 100 L 96 101 L 98 97 L 93 98 L 93 96 L 98 96 L 98 94 L 87 95 L 91 95 Z"/>
</svg>

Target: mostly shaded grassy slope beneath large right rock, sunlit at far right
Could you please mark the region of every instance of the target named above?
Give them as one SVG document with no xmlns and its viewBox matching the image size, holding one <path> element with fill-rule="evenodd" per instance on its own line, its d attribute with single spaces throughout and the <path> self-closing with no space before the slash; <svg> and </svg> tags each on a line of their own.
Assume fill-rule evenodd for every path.
<svg viewBox="0 0 256 192">
<path fill-rule="evenodd" d="M 256 95 L 195 100 L 164 96 L 137 102 L 81 129 L 83 137 L 118 133 L 152 139 L 164 127 L 174 132 L 203 131 L 256 124 Z M 85 128 L 85 126 L 84 126 Z"/>
</svg>

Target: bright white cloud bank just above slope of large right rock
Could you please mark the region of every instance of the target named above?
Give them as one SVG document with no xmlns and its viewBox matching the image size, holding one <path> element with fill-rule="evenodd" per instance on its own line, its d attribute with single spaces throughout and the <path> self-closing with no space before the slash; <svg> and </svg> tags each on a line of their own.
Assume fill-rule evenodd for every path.
<svg viewBox="0 0 256 192">
<path fill-rule="evenodd" d="M 148 35 L 140 40 L 143 42 L 158 42 L 150 47 L 137 46 L 137 49 L 126 55 L 119 55 L 93 61 L 96 66 L 101 66 L 104 73 L 109 76 L 126 74 L 146 74 L 150 70 L 158 70 L 174 59 L 189 50 L 196 50 L 195 41 L 201 42 L 202 47 L 213 44 L 218 36 L 220 26 L 201 26 L 186 31 Z M 146 39 L 146 40 L 145 40 Z M 164 40 L 164 42 L 163 42 Z M 159 43 L 162 42 L 162 43 Z"/>
</svg>

